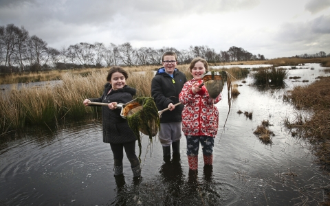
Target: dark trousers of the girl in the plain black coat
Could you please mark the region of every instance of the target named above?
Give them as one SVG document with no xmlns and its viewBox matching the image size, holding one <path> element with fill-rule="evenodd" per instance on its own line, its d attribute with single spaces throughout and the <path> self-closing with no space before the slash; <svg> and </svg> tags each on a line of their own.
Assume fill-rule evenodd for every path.
<svg viewBox="0 0 330 206">
<path fill-rule="evenodd" d="M 124 151 L 127 156 L 127 159 L 131 162 L 131 168 L 140 164 L 139 159 L 135 155 L 135 141 L 129 141 L 122 144 L 111 144 L 111 150 L 113 152 L 113 159 L 115 160 L 115 166 L 122 165 L 122 159 L 124 158 Z"/>
</svg>

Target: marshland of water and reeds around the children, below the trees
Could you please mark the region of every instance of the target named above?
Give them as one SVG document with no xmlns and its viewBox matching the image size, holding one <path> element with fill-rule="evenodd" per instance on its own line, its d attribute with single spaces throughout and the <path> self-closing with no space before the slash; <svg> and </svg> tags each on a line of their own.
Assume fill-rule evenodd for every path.
<svg viewBox="0 0 330 206">
<path fill-rule="evenodd" d="M 142 135 L 140 181 L 125 158 L 124 179 L 113 177 L 100 110 L 83 106 L 101 95 L 109 68 L 3 78 L 0 204 L 329 205 L 329 65 L 258 63 L 212 65 L 230 73 L 232 88 L 225 84 L 216 104 L 213 168 L 203 168 L 200 152 L 197 179 L 188 174 L 185 137 L 181 163 L 164 163 L 157 135 Z M 125 68 L 137 96 L 150 96 L 156 68 Z M 177 68 L 191 78 L 188 65 Z"/>
</svg>

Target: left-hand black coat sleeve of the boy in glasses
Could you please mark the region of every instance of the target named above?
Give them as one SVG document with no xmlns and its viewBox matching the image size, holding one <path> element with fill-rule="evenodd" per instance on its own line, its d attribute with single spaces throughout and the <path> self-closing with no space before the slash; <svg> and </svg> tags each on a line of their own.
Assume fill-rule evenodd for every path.
<svg viewBox="0 0 330 206">
<path fill-rule="evenodd" d="M 151 96 L 156 105 L 162 105 L 164 108 L 167 108 L 168 104 L 174 103 L 173 100 L 165 97 L 162 89 L 162 78 L 157 78 L 157 76 L 151 81 Z"/>
</svg>

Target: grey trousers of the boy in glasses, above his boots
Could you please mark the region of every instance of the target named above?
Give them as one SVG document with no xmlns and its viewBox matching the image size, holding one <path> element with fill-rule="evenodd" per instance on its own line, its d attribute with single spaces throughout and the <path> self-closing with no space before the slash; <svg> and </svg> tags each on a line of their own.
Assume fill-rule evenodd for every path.
<svg viewBox="0 0 330 206">
<path fill-rule="evenodd" d="M 159 141 L 162 146 L 170 146 L 173 142 L 181 139 L 182 122 L 161 123 Z"/>
</svg>

